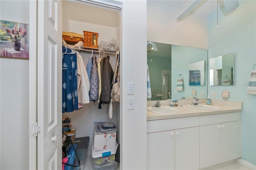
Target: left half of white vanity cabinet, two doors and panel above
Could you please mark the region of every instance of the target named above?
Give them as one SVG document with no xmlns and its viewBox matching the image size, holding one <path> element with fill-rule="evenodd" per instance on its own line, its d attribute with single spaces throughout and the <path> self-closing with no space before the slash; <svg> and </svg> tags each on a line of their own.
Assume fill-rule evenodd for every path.
<svg viewBox="0 0 256 170">
<path fill-rule="evenodd" d="M 199 117 L 147 122 L 147 169 L 199 169 Z"/>
</svg>

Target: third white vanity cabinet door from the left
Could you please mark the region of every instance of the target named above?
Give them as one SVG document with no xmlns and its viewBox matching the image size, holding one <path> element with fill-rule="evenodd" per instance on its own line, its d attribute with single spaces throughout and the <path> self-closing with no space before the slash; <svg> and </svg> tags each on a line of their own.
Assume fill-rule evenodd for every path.
<svg viewBox="0 0 256 170">
<path fill-rule="evenodd" d="M 200 127 L 200 169 L 220 163 L 220 124 Z"/>
</svg>

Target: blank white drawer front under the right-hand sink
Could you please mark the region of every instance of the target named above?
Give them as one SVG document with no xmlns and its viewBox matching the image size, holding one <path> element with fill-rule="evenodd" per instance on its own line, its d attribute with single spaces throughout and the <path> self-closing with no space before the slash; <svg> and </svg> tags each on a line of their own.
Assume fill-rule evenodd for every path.
<svg viewBox="0 0 256 170">
<path fill-rule="evenodd" d="M 238 112 L 200 116 L 200 126 L 238 121 Z"/>
</svg>

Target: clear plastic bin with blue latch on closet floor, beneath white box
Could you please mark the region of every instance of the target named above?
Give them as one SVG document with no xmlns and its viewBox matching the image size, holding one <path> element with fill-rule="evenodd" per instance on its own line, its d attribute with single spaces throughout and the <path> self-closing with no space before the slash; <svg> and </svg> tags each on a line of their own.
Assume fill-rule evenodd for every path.
<svg viewBox="0 0 256 170">
<path fill-rule="evenodd" d="M 115 161 L 116 148 L 94 151 L 94 140 L 92 139 L 92 162 L 94 170 L 117 170 Z"/>
</svg>

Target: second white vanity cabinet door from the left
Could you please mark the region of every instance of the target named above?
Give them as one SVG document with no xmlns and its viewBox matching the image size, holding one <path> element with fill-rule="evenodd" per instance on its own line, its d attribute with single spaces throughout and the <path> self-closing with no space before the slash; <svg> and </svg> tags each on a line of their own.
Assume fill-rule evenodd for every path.
<svg viewBox="0 0 256 170">
<path fill-rule="evenodd" d="M 175 169 L 199 169 L 199 127 L 175 130 Z"/>
</svg>

